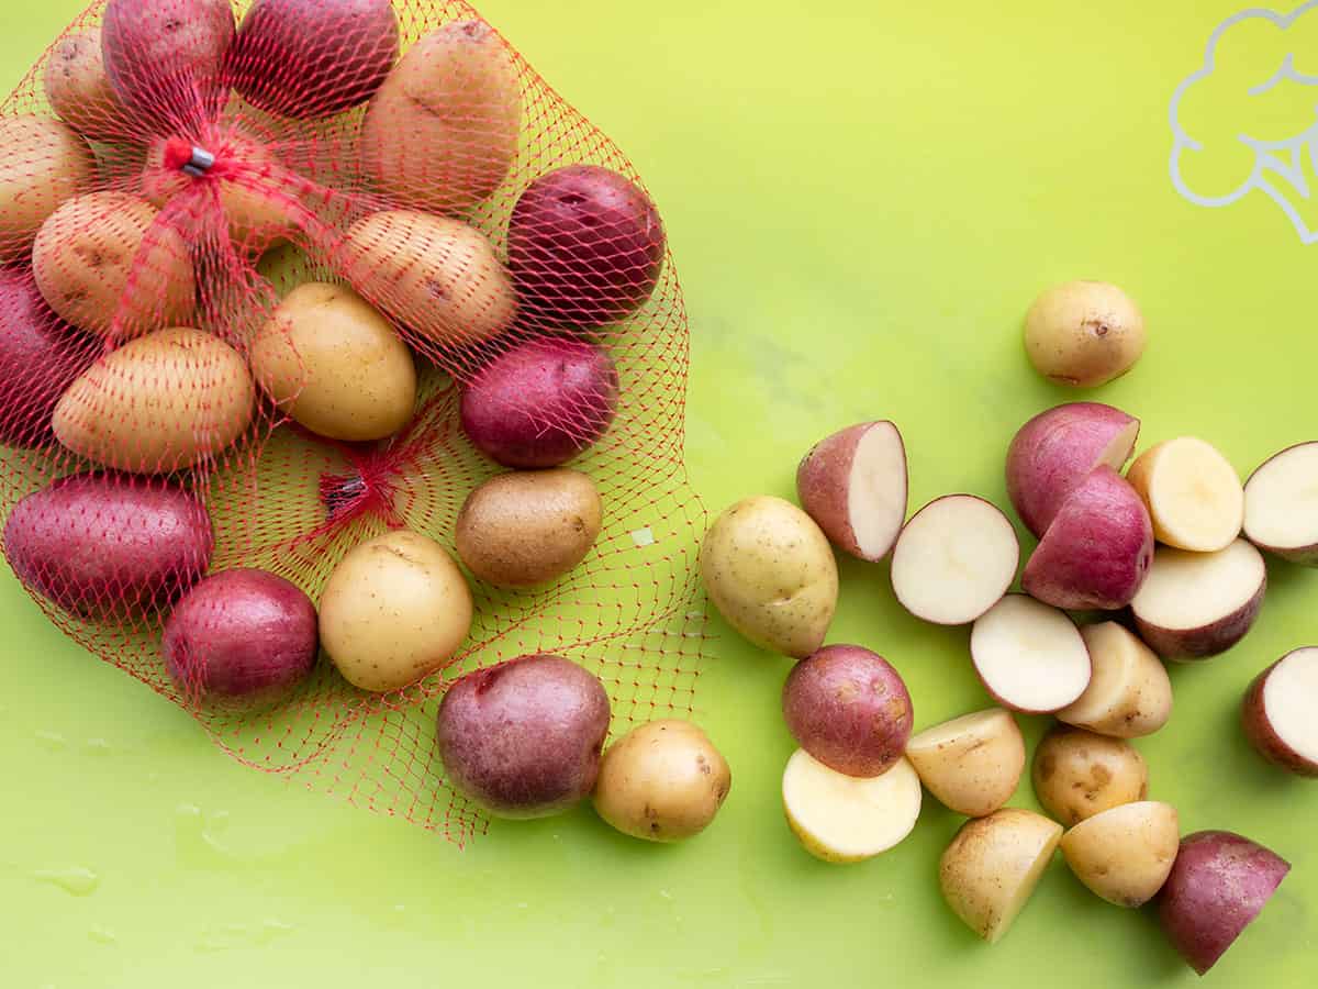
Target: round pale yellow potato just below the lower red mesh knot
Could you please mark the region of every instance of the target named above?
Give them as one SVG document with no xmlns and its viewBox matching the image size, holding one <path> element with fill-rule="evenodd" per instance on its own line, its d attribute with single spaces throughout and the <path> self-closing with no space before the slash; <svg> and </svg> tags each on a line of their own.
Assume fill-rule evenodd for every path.
<svg viewBox="0 0 1318 989">
<path fill-rule="evenodd" d="M 398 529 L 339 560 L 320 595 L 320 644 L 348 683 L 394 691 L 452 662 L 472 614 L 453 558 Z"/>
</svg>

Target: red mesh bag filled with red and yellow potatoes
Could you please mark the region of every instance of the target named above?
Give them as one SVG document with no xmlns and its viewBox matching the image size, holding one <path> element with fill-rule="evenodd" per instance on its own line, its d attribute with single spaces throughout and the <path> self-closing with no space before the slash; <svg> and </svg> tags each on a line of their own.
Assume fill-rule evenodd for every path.
<svg viewBox="0 0 1318 989">
<path fill-rule="evenodd" d="M 552 653 L 614 733 L 689 712 L 663 227 L 469 7 L 98 3 L 0 111 L 0 203 L 4 551 L 78 642 L 455 841 L 464 674 Z M 464 510 L 505 468 L 559 469 Z"/>
</svg>

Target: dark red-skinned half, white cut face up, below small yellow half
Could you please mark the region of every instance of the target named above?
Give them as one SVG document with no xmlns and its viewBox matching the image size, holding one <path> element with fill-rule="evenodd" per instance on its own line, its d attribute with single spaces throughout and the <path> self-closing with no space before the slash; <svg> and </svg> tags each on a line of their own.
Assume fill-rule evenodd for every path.
<svg viewBox="0 0 1318 989">
<path fill-rule="evenodd" d="M 1207 659 L 1244 638 L 1267 589 L 1263 556 L 1244 539 L 1218 553 L 1159 546 L 1131 611 L 1164 659 Z"/>
</svg>

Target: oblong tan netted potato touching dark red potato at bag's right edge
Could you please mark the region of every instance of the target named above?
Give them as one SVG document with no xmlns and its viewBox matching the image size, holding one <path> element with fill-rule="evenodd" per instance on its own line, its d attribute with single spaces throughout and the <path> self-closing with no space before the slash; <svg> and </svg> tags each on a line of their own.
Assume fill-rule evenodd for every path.
<svg viewBox="0 0 1318 989">
<path fill-rule="evenodd" d="M 343 270 L 362 297 L 440 347 L 498 336 L 517 313 L 490 243 L 443 216 L 393 210 L 357 220 L 344 241 Z"/>
</svg>

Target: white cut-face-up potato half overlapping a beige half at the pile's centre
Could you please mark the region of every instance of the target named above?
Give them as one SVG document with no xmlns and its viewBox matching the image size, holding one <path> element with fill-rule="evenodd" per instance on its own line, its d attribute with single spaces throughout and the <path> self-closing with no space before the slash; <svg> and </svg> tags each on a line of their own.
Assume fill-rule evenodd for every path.
<svg viewBox="0 0 1318 989">
<path fill-rule="evenodd" d="M 970 658 L 985 690 L 1021 713 L 1058 711 L 1089 686 L 1089 649 L 1064 612 L 1007 595 L 970 630 Z"/>
</svg>

